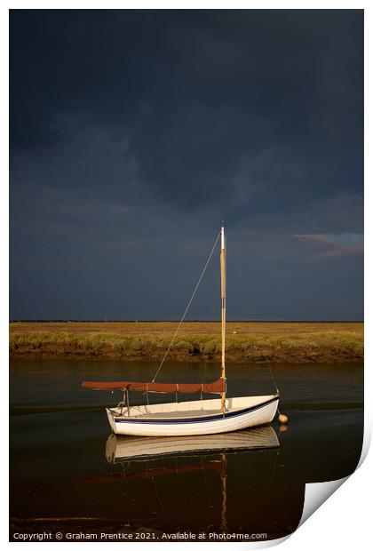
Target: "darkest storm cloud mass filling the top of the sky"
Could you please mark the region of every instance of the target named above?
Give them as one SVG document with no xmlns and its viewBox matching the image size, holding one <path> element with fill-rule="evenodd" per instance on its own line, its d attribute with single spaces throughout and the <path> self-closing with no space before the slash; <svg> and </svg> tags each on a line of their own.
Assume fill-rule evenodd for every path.
<svg viewBox="0 0 373 551">
<path fill-rule="evenodd" d="M 130 132 L 143 180 L 188 207 L 229 191 L 242 157 L 276 147 L 280 164 L 269 161 L 278 187 L 290 180 L 287 195 L 296 190 L 283 148 L 304 169 L 302 194 L 354 188 L 361 20 L 359 11 L 12 12 L 12 144 L 54 146 L 68 140 L 56 116 L 83 115 Z"/>
</svg>

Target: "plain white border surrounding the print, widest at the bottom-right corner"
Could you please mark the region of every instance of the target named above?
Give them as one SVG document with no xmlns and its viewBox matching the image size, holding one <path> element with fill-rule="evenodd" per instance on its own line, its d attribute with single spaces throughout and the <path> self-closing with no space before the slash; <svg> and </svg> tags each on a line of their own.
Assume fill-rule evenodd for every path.
<svg viewBox="0 0 373 551">
<path fill-rule="evenodd" d="M 1 17 L 1 32 L 0 32 L 0 40 L 1 40 L 1 49 L 0 49 L 0 55 L 2 56 L 2 68 L 3 68 L 3 85 L 1 86 L 1 94 L 2 94 L 2 110 L 1 110 L 1 116 L 2 116 L 2 125 L 1 125 L 1 136 L 2 136 L 2 148 L 1 148 L 1 157 L 2 157 L 2 182 L 3 185 L 0 188 L 0 194 L 1 194 L 1 205 L 4 212 L 2 212 L 1 216 L 1 239 L 2 239 L 2 252 L 3 252 L 3 258 L 6 258 L 8 255 L 8 228 L 9 228 L 9 220 L 8 220 L 8 190 L 6 186 L 6 182 L 9 181 L 9 175 L 8 175 L 8 85 L 6 83 L 8 82 L 8 9 L 42 9 L 42 8 L 54 8 L 54 9 L 75 9 L 75 8 L 82 8 L 82 9 L 98 9 L 98 8 L 108 8 L 108 9 L 131 9 L 131 8 L 141 8 L 141 9 L 148 9 L 148 8 L 162 8 L 162 9 L 190 9 L 190 8 L 205 8 L 205 9 L 233 9 L 233 8 L 242 8 L 242 9 L 365 9 L 365 124 L 366 124 L 366 131 L 365 131 L 365 181 L 370 182 L 372 181 L 372 173 L 371 173 L 371 163 L 369 163 L 369 152 L 373 150 L 372 143 L 371 143 L 371 111 L 368 98 L 373 97 L 373 91 L 371 87 L 371 17 L 370 17 L 370 9 L 369 6 L 367 6 L 367 3 L 362 2 L 351 2 L 351 1 L 329 1 L 329 2 L 321 2 L 320 0 L 314 1 L 314 2 L 303 2 L 300 4 L 299 2 L 269 2 L 269 1 L 262 1 L 258 2 L 258 0 L 255 2 L 223 2 L 223 1 L 215 1 L 215 2 L 196 2 L 195 0 L 188 0 L 188 1 L 180 1 L 179 2 L 156 2 L 155 0 L 150 1 L 138 1 L 138 2 L 119 2 L 118 0 L 107 0 L 106 3 L 98 2 L 97 0 L 85 0 L 85 1 L 74 1 L 66 0 L 65 2 L 54 2 L 52 5 L 50 2 L 44 1 L 38 1 L 38 2 L 28 2 L 27 0 L 14 0 L 14 1 L 8 1 L 2 3 L 2 6 L 0 8 L 0 13 L 2 15 Z M 372 228 L 371 228 L 371 212 L 370 208 L 372 205 L 371 202 L 371 191 L 368 185 L 365 187 L 365 220 L 366 220 L 366 235 L 368 236 L 366 239 L 366 265 L 365 265 L 365 310 L 366 310 L 366 320 L 365 320 L 365 332 L 366 335 L 371 335 L 371 316 L 370 314 L 370 308 L 373 307 L 373 301 L 372 301 L 372 292 L 369 289 L 368 283 L 373 281 L 373 274 L 372 274 L 372 268 L 371 268 L 371 254 L 370 254 L 370 244 L 369 244 L 369 236 L 372 234 Z M 3 358 L 3 364 L 7 364 L 7 358 L 8 358 L 8 341 L 7 341 L 7 333 L 8 333 L 8 275 L 5 271 L 5 268 L 1 270 L 1 297 L 2 297 L 2 306 L 3 306 L 3 316 L 2 316 L 2 339 L 1 339 L 1 357 Z M 372 352 L 371 352 L 371 346 L 369 344 L 369 339 L 366 339 L 366 365 L 369 366 L 372 365 Z M 7 369 L 4 366 L 5 371 L 7 372 Z M 365 455 L 368 451 L 369 447 L 369 441 L 370 441 L 370 435 L 371 435 L 371 419 L 372 419 L 372 407 L 371 407 L 371 399 L 369 399 L 369 396 L 372 395 L 372 377 L 369 373 L 370 369 L 365 370 L 365 379 L 366 379 L 366 386 L 365 386 L 365 435 L 364 435 L 364 452 L 363 455 Z M 7 385 L 2 385 L 2 403 L 4 408 L 7 409 L 7 403 L 8 403 L 8 395 L 7 395 Z M 7 412 L 2 416 L 2 419 L 7 419 Z M 7 439 L 8 434 L 8 425 L 7 421 L 3 422 L 2 427 L 2 436 L 5 439 Z M 299 548 L 302 548 L 303 550 L 307 551 L 308 549 L 311 551 L 314 549 L 315 546 L 322 547 L 322 548 L 328 548 L 328 546 L 338 547 L 339 549 L 350 549 L 353 547 L 365 547 L 366 543 L 369 541 L 369 523 L 371 523 L 370 518 L 368 517 L 369 509 L 370 507 L 363 507 L 360 506 L 361 501 L 363 501 L 363 498 L 365 495 L 367 495 L 367 489 L 369 487 L 369 482 L 371 482 L 371 473 L 372 473 L 372 454 L 370 453 L 368 456 L 368 459 L 363 462 L 361 467 L 359 468 L 358 472 L 353 474 L 347 482 L 343 485 L 343 487 L 337 491 L 337 494 L 332 496 L 324 505 L 321 507 L 321 511 L 316 511 L 312 515 L 312 521 L 306 522 L 304 525 L 302 525 L 292 536 L 290 536 L 290 539 L 287 539 L 286 543 L 283 544 L 283 548 L 287 549 L 288 551 L 291 551 L 291 549 L 295 549 L 298 551 Z M 7 462 L 7 454 L 2 454 L 2 473 L 6 473 L 8 471 L 8 462 Z M 7 484 L 3 484 L 3 489 L 7 488 Z M 7 491 L 2 492 L 2 508 L 1 508 L 1 532 L 2 532 L 2 539 L 4 543 L 7 543 L 7 545 L 18 545 L 14 543 L 8 543 L 8 495 Z M 369 498 L 370 496 L 367 496 Z M 367 504 L 370 504 L 370 499 L 367 501 Z M 266 544 L 266 542 L 263 542 Z M 268 542 L 271 543 L 271 545 L 274 545 L 274 542 Z M 24 544 L 28 546 L 35 546 L 37 544 L 29 543 Z M 45 545 L 48 546 L 48 544 L 43 543 L 44 547 Z M 49 545 L 59 545 L 59 548 L 61 546 L 67 546 L 68 543 L 60 543 L 60 544 L 49 544 Z M 77 545 L 77 544 L 75 544 Z M 81 546 L 90 546 L 90 543 L 82 543 Z M 107 546 L 107 544 L 95 544 L 95 548 L 97 546 Z M 123 544 L 120 543 L 110 543 L 110 547 L 112 546 L 119 546 L 123 549 Z M 125 547 L 128 548 L 132 546 L 133 544 L 127 544 Z M 137 549 L 139 547 L 142 548 L 142 544 L 134 544 Z M 173 547 L 179 547 L 181 546 L 182 549 L 186 549 L 187 547 L 195 547 L 195 545 L 199 545 L 200 547 L 202 545 L 206 544 L 195 544 L 195 543 L 175 543 L 175 544 L 169 544 L 169 546 Z M 210 544 L 211 546 L 214 545 L 213 543 Z M 232 548 L 232 544 L 230 543 L 218 543 L 218 548 L 222 549 L 224 548 Z M 245 547 L 251 547 L 253 548 L 258 547 L 256 544 L 246 544 L 246 543 L 238 543 L 236 545 L 239 546 L 245 546 Z M 153 547 L 161 548 L 163 547 L 163 544 L 152 544 Z M 263 547 L 263 546 L 259 546 Z"/>
</svg>

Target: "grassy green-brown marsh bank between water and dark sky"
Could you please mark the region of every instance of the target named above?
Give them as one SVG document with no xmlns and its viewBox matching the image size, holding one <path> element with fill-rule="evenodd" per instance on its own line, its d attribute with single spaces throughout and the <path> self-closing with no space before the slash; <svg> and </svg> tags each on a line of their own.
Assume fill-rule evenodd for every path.
<svg viewBox="0 0 373 551">
<path fill-rule="evenodd" d="M 11 323 L 11 358 L 112 358 L 160 360 L 178 323 Z M 183 323 L 169 353 L 172 361 L 217 361 L 220 324 Z M 363 323 L 228 322 L 229 362 L 361 362 Z"/>
</svg>

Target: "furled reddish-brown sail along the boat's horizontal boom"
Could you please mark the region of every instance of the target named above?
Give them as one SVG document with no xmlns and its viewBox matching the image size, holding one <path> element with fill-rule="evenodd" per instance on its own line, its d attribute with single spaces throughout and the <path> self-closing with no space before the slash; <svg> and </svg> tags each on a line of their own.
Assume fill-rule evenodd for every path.
<svg viewBox="0 0 373 551">
<path fill-rule="evenodd" d="M 221 394 L 226 388 L 226 379 L 218 379 L 213 383 L 138 383 L 134 381 L 115 382 L 94 382 L 83 380 L 82 387 L 91 390 L 137 390 L 139 392 L 182 392 L 189 394 L 193 392 L 205 392 L 206 394 Z"/>
</svg>

